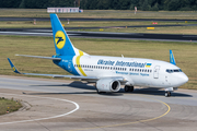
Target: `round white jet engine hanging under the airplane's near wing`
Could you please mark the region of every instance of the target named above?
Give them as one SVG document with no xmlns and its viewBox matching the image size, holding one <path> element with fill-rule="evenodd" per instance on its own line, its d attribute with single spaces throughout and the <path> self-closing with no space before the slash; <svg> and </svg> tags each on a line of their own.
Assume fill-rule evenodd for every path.
<svg viewBox="0 0 197 131">
<path fill-rule="evenodd" d="M 96 82 L 99 92 L 118 92 L 120 90 L 120 82 L 114 79 L 101 79 Z"/>
</svg>

